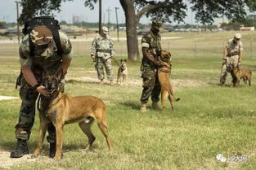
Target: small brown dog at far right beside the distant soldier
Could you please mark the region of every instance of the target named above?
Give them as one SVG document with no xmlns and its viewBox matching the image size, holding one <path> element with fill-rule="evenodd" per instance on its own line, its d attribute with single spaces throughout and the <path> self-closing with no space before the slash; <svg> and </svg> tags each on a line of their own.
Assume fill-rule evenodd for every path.
<svg viewBox="0 0 256 170">
<path fill-rule="evenodd" d="M 233 86 L 239 85 L 241 79 L 243 79 L 245 84 L 249 81 L 249 85 L 251 85 L 252 71 L 249 68 L 235 68 L 233 75 L 236 79 L 233 80 Z"/>
</svg>

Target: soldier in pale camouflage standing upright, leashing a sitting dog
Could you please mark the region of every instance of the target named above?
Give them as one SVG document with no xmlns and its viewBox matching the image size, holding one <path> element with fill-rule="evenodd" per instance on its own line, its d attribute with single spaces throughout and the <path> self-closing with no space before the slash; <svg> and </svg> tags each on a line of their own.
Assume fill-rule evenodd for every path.
<svg viewBox="0 0 256 170">
<path fill-rule="evenodd" d="M 102 27 L 101 33 L 97 35 L 92 41 L 91 56 L 96 61 L 95 68 L 97 70 L 98 79 L 103 83 L 104 68 L 106 69 L 106 76 L 113 85 L 113 72 L 111 66 L 111 59 L 115 57 L 114 42 L 111 37 L 107 35 L 108 28 Z"/>
</svg>

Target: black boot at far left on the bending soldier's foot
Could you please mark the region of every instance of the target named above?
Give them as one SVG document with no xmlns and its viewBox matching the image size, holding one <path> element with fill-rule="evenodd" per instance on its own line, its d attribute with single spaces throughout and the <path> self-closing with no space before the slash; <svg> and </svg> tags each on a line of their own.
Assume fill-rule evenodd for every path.
<svg viewBox="0 0 256 170">
<path fill-rule="evenodd" d="M 29 148 L 26 140 L 18 139 L 16 148 L 11 151 L 11 158 L 20 158 L 23 155 L 29 154 Z"/>
</svg>

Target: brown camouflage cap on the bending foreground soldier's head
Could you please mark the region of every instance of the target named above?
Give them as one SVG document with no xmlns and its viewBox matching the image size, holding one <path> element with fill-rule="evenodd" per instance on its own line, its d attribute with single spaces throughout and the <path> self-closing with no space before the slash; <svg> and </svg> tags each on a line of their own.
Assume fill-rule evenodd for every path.
<svg viewBox="0 0 256 170">
<path fill-rule="evenodd" d="M 52 31 L 45 25 L 35 27 L 30 33 L 31 41 L 37 46 L 48 44 L 52 41 Z"/>
</svg>

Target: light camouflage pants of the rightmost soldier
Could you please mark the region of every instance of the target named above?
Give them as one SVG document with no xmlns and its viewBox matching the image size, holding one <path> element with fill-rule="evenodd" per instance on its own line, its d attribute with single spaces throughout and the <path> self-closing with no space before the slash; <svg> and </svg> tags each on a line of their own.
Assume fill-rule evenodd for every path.
<svg viewBox="0 0 256 170">
<path fill-rule="evenodd" d="M 233 55 L 231 57 L 227 57 L 227 63 L 222 67 L 222 76 L 220 79 L 220 83 L 224 84 L 226 82 L 227 72 L 231 73 L 232 78 L 232 71 L 238 67 L 238 55 Z"/>
</svg>

